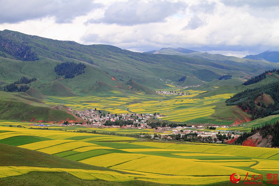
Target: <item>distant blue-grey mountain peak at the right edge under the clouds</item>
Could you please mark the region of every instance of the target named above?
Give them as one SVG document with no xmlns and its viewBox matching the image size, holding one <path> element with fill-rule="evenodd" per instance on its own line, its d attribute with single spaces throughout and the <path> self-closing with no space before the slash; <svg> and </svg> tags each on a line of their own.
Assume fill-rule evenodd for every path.
<svg viewBox="0 0 279 186">
<path fill-rule="evenodd" d="M 279 63 L 279 52 L 278 51 L 265 51 L 265 52 L 257 54 L 257 55 L 248 55 L 248 56 L 245 56 L 244 58 Z"/>
</svg>

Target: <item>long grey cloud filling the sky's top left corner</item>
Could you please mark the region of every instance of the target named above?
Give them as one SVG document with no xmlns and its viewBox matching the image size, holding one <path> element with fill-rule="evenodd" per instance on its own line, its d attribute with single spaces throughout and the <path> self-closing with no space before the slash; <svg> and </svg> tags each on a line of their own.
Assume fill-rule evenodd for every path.
<svg viewBox="0 0 279 186">
<path fill-rule="evenodd" d="M 92 0 L 0 0 L 0 4 L 0 23 L 18 23 L 45 17 L 54 17 L 56 23 L 71 23 L 75 17 L 101 7 L 101 4 L 94 4 Z"/>
</svg>

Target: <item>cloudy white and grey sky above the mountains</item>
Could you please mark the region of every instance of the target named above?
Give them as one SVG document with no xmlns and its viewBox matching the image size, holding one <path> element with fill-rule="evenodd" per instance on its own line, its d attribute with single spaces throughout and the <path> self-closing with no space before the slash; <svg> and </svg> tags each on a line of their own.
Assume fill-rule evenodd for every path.
<svg viewBox="0 0 279 186">
<path fill-rule="evenodd" d="M 0 0 L 0 30 L 135 52 L 279 51 L 278 0 Z"/>
</svg>

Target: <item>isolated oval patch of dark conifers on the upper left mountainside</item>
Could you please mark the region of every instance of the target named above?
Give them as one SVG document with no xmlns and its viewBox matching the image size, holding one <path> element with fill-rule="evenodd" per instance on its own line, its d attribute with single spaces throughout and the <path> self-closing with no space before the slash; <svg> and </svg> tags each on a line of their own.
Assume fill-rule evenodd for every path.
<svg viewBox="0 0 279 186">
<path fill-rule="evenodd" d="M 74 62 L 63 62 L 57 64 L 54 67 L 54 71 L 58 76 L 64 76 L 67 78 L 74 78 L 82 73 L 84 73 L 85 64 L 83 63 L 74 63 Z"/>
</svg>

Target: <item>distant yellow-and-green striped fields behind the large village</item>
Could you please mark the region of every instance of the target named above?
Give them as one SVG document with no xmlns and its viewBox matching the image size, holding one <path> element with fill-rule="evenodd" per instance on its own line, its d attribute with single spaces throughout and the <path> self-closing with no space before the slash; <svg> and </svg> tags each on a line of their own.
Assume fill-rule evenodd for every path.
<svg viewBox="0 0 279 186">
<path fill-rule="evenodd" d="M 177 92 L 181 89 L 170 87 Z M 187 90 L 189 95 L 162 94 L 161 96 L 143 95 L 137 93 L 132 96 L 121 95 L 98 97 L 49 97 L 44 102 L 48 105 L 66 105 L 73 110 L 94 109 L 105 110 L 107 113 L 160 113 L 159 119 L 174 122 L 190 122 L 197 118 L 209 116 L 215 112 L 216 103 L 230 98 L 233 93 L 213 95 L 211 97 L 193 98 L 205 91 Z M 182 91 L 181 91 L 182 93 Z"/>
</svg>

